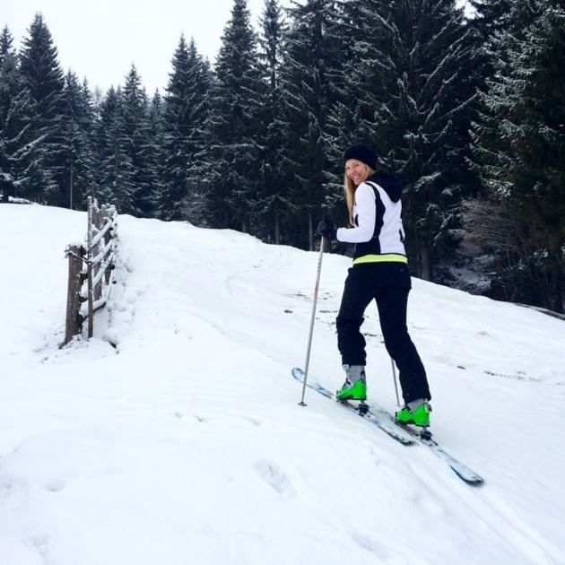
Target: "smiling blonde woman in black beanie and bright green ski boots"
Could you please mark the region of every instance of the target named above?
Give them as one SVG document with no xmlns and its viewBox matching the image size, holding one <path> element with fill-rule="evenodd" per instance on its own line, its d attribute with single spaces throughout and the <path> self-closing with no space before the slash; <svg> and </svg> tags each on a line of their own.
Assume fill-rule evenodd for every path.
<svg viewBox="0 0 565 565">
<path fill-rule="evenodd" d="M 365 143 L 355 143 L 343 153 L 344 190 L 352 228 L 335 230 L 326 219 L 318 235 L 354 243 L 353 266 L 345 280 L 337 316 L 337 343 L 345 369 L 345 383 L 337 398 L 365 400 L 365 338 L 360 327 L 369 302 L 377 301 L 380 327 L 387 352 L 400 373 L 404 408 L 397 422 L 430 425 L 431 398 L 426 371 L 406 327 L 408 292 L 412 288 L 404 250 L 401 220 L 402 185 L 386 172 L 377 171 L 377 155 Z"/>
</svg>

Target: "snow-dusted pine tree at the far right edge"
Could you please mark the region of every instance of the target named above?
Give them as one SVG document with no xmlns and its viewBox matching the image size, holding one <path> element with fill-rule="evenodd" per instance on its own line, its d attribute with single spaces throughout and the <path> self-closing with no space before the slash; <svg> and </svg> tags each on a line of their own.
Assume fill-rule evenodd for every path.
<svg viewBox="0 0 565 565">
<path fill-rule="evenodd" d="M 543 306 L 563 311 L 565 289 L 565 7 L 557 0 L 513 5 L 512 21 L 500 38 L 496 73 L 483 101 L 487 126 L 477 126 L 482 180 L 521 219 L 537 244 L 521 268 L 543 276 Z M 523 25 L 529 22 L 528 25 Z M 480 135 L 487 131 L 488 135 Z M 527 289 L 526 289 L 527 291 Z M 518 299 L 519 300 L 519 299 Z"/>
</svg>

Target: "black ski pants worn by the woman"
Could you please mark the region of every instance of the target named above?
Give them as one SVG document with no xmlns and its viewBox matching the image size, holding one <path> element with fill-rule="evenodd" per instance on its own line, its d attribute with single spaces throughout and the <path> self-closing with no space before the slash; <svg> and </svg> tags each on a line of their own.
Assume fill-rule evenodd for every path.
<svg viewBox="0 0 565 565">
<path fill-rule="evenodd" d="M 342 305 L 336 320 L 337 345 L 343 364 L 365 365 L 366 342 L 360 328 L 369 302 L 377 301 L 385 347 L 398 367 L 406 404 L 418 398 L 431 398 L 426 371 L 406 327 L 406 307 L 411 288 L 408 265 L 404 263 L 353 265 L 345 280 Z"/>
</svg>

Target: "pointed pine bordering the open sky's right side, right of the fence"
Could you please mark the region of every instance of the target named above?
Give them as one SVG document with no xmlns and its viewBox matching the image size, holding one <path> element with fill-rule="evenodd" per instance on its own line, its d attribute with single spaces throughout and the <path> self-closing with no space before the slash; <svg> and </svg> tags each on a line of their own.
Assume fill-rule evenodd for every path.
<svg viewBox="0 0 565 565">
<path fill-rule="evenodd" d="M 201 187 L 189 191 L 188 170 L 202 151 L 206 118 L 206 92 L 210 71 L 199 55 L 194 39 L 181 36 L 172 58 L 172 72 L 163 102 L 163 191 L 159 217 L 163 220 L 198 222 Z"/>
</svg>

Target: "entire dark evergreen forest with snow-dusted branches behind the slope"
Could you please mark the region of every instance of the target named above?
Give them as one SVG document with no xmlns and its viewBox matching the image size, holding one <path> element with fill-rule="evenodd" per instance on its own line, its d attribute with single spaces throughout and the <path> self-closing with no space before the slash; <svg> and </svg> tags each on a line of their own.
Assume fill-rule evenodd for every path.
<svg viewBox="0 0 565 565">
<path fill-rule="evenodd" d="M 265 0 L 252 22 L 233 0 L 216 59 L 181 36 L 154 93 L 135 65 L 105 92 L 65 73 L 40 13 L 20 48 L 4 26 L 0 199 L 314 249 L 348 222 L 343 149 L 370 143 L 415 276 L 562 313 L 565 4 L 469 4 Z"/>
</svg>

